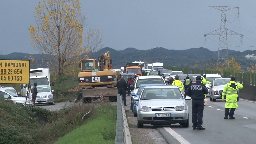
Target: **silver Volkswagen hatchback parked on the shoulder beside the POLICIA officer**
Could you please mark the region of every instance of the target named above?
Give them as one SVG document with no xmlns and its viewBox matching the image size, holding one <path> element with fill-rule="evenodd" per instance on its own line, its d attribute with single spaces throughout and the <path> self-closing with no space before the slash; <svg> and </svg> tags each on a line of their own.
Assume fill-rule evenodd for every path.
<svg viewBox="0 0 256 144">
<path fill-rule="evenodd" d="M 139 98 L 137 109 L 137 127 L 143 124 L 170 125 L 179 123 L 183 127 L 189 126 L 188 106 L 177 86 L 160 85 L 145 86 Z"/>
</svg>

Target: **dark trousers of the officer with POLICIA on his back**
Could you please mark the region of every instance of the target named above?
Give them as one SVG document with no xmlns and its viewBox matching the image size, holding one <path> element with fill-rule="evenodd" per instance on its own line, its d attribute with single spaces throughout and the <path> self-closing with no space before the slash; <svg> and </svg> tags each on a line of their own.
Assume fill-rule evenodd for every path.
<svg viewBox="0 0 256 144">
<path fill-rule="evenodd" d="M 192 123 L 193 126 L 201 127 L 203 124 L 203 99 L 192 100 Z"/>
</svg>

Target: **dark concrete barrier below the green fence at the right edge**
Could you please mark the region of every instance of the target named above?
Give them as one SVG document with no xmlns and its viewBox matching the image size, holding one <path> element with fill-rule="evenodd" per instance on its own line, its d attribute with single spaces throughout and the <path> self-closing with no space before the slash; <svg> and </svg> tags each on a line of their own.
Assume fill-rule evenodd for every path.
<svg viewBox="0 0 256 144">
<path fill-rule="evenodd" d="M 239 89 L 238 96 L 243 99 L 256 100 L 256 86 L 243 84 L 243 88 Z"/>
</svg>

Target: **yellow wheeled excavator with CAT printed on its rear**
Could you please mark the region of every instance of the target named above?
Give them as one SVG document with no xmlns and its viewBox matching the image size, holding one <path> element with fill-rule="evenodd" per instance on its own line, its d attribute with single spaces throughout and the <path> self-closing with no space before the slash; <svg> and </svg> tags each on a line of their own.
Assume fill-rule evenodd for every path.
<svg viewBox="0 0 256 144">
<path fill-rule="evenodd" d="M 117 100 L 118 89 L 117 76 L 120 71 L 112 70 L 110 53 L 107 51 L 97 59 L 81 60 L 79 67 L 81 72 L 78 74 L 79 86 L 92 86 L 92 88 L 83 88 L 80 97 L 83 103 L 91 103 L 92 97 L 109 97 L 110 101 Z"/>
</svg>

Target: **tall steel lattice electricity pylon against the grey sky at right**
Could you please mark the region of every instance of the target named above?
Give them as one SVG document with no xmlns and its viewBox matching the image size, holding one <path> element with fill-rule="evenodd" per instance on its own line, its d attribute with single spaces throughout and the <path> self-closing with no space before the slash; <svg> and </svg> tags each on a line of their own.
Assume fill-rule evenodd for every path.
<svg viewBox="0 0 256 144">
<path fill-rule="evenodd" d="M 227 7 L 227 6 L 212 6 L 212 8 L 218 9 L 221 11 L 221 26 L 220 29 L 212 31 L 210 33 L 205 34 L 207 35 L 218 35 L 219 36 L 219 47 L 218 47 L 218 62 L 217 66 L 219 67 L 220 63 L 228 60 L 228 45 L 227 45 L 227 36 L 228 35 L 240 35 L 242 34 L 236 33 L 232 30 L 227 29 L 226 25 L 226 11 L 231 9 L 238 9 L 238 7 Z M 224 54 L 221 54 L 220 51 L 225 50 Z"/>
</svg>

